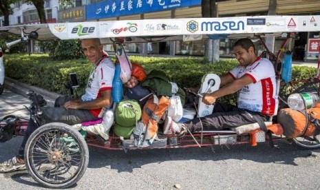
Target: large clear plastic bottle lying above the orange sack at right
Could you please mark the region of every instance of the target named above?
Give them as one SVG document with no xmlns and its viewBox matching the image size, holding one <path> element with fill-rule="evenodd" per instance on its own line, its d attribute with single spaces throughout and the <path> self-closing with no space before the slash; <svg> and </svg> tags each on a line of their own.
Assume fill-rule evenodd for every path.
<svg viewBox="0 0 320 190">
<path fill-rule="evenodd" d="M 288 105 L 291 109 L 302 110 L 315 107 L 319 103 L 319 96 L 311 92 L 291 94 L 288 97 Z M 306 106 L 305 106 L 306 104 Z"/>
</svg>

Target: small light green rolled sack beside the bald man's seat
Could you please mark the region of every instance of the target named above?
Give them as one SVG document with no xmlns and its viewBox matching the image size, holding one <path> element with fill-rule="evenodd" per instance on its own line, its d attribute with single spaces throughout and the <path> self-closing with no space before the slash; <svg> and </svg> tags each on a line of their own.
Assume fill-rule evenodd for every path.
<svg viewBox="0 0 320 190">
<path fill-rule="evenodd" d="M 122 127 L 136 125 L 141 118 L 141 107 L 135 100 L 120 101 L 116 107 L 116 123 Z"/>
</svg>

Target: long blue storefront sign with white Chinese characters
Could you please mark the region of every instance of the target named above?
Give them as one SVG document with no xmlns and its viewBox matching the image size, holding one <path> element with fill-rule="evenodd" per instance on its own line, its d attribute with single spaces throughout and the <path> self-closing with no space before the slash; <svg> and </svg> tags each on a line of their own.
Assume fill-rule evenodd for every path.
<svg viewBox="0 0 320 190">
<path fill-rule="evenodd" d="M 87 20 L 199 6 L 201 0 L 107 0 L 86 6 Z"/>
</svg>

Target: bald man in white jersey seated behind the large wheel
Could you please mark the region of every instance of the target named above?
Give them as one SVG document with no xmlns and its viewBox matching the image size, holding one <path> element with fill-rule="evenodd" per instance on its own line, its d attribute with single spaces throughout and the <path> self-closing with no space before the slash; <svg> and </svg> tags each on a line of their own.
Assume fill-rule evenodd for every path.
<svg viewBox="0 0 320 190">
<path fill-rule="evenodd" d="M 115 66 L 99 39 L 83 39 L 81 41 L 83 53 L 87 60 L 95 67 L 89 74 L 85 94 L 81 98 L 60 104 L 60 107 L 41 107 L 46 123 L 60 122 L 74 125 L 98 118 L 102 107 L 111 105 L 112 79 Z M 57 104 L 55 104 L 56 106 Z M 30 119 L 28 129 L 19 149 L 19 154 L 0 164 L 0 172 L 12 172 L 26 169 L 23 158 L 25 143 L 38 126 Z"/>
</svg>

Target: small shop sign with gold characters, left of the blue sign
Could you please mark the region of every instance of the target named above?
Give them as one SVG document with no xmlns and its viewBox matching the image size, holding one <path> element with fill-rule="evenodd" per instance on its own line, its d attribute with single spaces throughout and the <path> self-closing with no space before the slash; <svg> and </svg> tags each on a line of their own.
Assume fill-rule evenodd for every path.
<svg viewBox="0 0 320 190">
<path fill-rule="evenodd" d="M 85 7 L 70 8 L 58 11 L 58 22 L 81 22 L 85 21 Z"/>
</svg>

